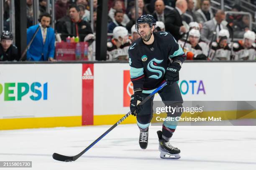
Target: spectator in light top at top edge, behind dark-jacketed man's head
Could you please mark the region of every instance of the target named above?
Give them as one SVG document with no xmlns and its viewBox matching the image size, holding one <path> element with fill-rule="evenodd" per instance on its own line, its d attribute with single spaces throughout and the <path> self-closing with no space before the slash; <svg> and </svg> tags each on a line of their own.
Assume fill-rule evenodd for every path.
<svg viewBox="0 0 256 170">
<path fill-rule="evenodd" d="M 112 21 L 115 20 L 115 11 L 116 10 L 123 10 L 123 1 L 122 0 L 115 0 L 113 3 L 113 7 L 110 8 L 109 12 L 108 12 L 108 16 L 111 18 Z M 130 19 L 128 18 L 128 16 L 126 14 L 123 14 L 123 21 L 122 21 L 122 25 L 126 26 L 127 23 L 129 23 Z"/>
</svg>

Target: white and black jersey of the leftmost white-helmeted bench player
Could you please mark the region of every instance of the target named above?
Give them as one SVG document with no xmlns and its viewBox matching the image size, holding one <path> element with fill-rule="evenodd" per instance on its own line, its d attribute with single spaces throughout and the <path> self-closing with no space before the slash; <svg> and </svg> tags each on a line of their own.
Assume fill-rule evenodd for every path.
<svg viewBox="0 0 256 170">
<path fill-rule="evenodd" d="M 131 41 L 128 39 L 126 43 L 119 48 L 115 45 L 115 41 L 111 40 L 107 42 L 107 60 L 118 61 L 128 60 L 128 49 L 131 45 Z"/>
</svg>

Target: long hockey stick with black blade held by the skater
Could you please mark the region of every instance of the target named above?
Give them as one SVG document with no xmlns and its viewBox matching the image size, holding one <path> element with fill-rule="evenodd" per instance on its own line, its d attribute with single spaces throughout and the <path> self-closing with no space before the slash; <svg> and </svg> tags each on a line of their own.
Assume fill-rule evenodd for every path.
<svg viewBox="0 0 256 170">
<path fill-rule="evenodd" d="M 154 92 L 152 92 L 150 95 L 148 95 L 144 100 L 142 100 L 138 105 L 143 105 L 148 99 L 150 99 L 156 92 L 161 90 L 165 85 L 167 84 L 166 81 L 164 81 L 159 87 L 157 87 Z M 91 145 L 89 145 L 87 148 L 85 148 L 81 153 L 75 155 L 75 156 L 65 156 L 65 155 L 60 155 L 58 153 L 54 153 L 52 155 L 52 158 L 55 160 L 59 161 L 64 161 L 64 162 L 71 162 L 77 160 L 80 156 L 82 156 L 87 150 L 92 148 L 93 145 L 95 145 L 97 142 L 99 142 L 105 135 L 107 135 L 111 130 L 113 130 L 116 126 L 118 126 L 123 120 L 125 120 L 129 115 L 131 115 L 131 111 L 129 111 L 126 115 L 124 115 L 118 122 L 116 122 L 111 128 L 109 128 L 105 133 L 103 133 L 99 138 L 97 138 Z"/>
</svg>

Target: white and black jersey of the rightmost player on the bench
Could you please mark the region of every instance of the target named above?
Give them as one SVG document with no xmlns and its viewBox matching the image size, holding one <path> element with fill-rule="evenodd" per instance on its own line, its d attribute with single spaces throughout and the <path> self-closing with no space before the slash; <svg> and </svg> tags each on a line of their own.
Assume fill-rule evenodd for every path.
<svg viewBox="0 0 256 170">
<path fill-rule="evenodd" d="M 256 60 L 256 44 L 253 43 L 251 47 L 243 47 L 243 41 L 233 43 L 233 51 L 235 53 L 235 60 Z"/>
</svg>

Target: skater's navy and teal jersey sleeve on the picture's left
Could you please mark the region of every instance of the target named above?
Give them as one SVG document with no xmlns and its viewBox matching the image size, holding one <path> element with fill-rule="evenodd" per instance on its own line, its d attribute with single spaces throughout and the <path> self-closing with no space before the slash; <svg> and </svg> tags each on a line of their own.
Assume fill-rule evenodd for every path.
<svg viewBox="0 0 256 170">
<path fill-rule="evenodd" d="M 136 42 L 132 43 L 129 50 L 129 65 L 131 82 L 133 82 L 133 89 L 142 89 L 145 75 L 144 68 L 141 62 L 141 58 L 138 55 L 138 49 L 136 49 Z"/>
</svg>

